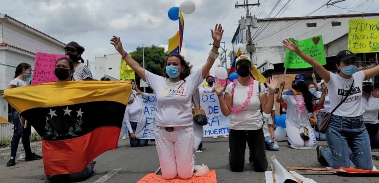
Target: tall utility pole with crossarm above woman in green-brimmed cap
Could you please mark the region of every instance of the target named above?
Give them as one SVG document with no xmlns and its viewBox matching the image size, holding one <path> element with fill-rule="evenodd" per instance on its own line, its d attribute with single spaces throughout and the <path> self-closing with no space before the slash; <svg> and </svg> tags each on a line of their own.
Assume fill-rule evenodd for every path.
<svg viewBox="0 0 379 183">
<path fill-rule="evenodd" d="M 250 28 L 257 28 L 255 25 L 253 25 L 253 20 L 255 19 L 255 17 L 251 16 L 251 13 L 250 13 L 250 8 L 253 7 L 253 6 L 259 6 L 260 3 L 259 3 L 259 0 L 258 0 L 258 3 L 253 3 L 253 4 L 249 4 L 249 0 L 245 0 L 245 2 L 243 3 L 243 5 L 238 5 L 238 2 L 236 2 L 235 4 L 235 8 L 244 8 L 246 9 L 246 18 L 243 20 L 245 23 L 245 26 L 246 26 L 246 40 L 247 40 L 247 44 L 246 44 L 246 51 L 249 53 L 250 55 L 250 60 L 253 61 L 253 53 L 255 52 L 255 45 L 252 43 L 252 37 L 251 37 L 251 29 Z M 241 29 L 241 28 L 240 28 Z M 244 28 L 242 28 L 244 29 Z M 258 65 L 257 62 L 253 62 L 254 65 Z"/>
</svg>

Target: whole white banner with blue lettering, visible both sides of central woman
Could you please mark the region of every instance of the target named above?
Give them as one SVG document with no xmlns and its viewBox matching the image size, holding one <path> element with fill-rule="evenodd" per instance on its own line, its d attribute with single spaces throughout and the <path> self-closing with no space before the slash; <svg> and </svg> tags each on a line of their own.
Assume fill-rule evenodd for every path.
<svg viewBox="0 0 379 183">
<path fill-rule="evenodd" d="M 155 94 L 141 94 L 137 96 L 141 105 L 141 119 L 137 125 L 136 138 L 155 138 L 155 118 L 157 112 L 157 96 Z M 230 117 L 221 113 L 220 104 L 216 93 L 201 93 L 200 107 L 205 111 L 208 124 L 203 126 L 204 137 L 229 134 Z"/>
</svg>

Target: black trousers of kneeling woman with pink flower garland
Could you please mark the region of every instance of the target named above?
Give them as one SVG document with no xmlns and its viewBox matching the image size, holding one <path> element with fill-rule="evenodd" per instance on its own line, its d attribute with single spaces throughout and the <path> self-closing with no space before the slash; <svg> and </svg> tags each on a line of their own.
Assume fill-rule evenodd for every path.
<svg viewBox="0 0 379 183">
<path fill-rule="evenodd" d="M 265 172 L 268 167 L 265 136 L 263 129 L 229 131 L 229 164 L 232 172 L 242 172 L 245 165 L 245 150 L 250 149 L 250 157 L 256 172 Z"/>
</svg>

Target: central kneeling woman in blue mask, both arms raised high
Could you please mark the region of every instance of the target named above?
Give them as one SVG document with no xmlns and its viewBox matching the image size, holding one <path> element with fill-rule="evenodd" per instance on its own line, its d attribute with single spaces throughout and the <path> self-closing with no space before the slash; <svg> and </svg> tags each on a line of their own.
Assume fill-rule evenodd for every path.
<svg viewBox="0 0 379 183">
<path fill-rule="evenodd" d="M 111 44 L 126 63 L 157 95 L 155 144 L 165 179 L 173 179 L 177 175 L 188 179 L 193 175 L 195 156 L 191 99 L 218 57 L 223 33 L 221 24 L 216 24 L 215 30 L 211 30 L 213 48 L 202 69 L 191 74 L 184 58 L 179 54 L 171 54 L 166 59 L 165 77 L 142 68 L 122 48 L 119 37 L 113 36 L 111 39 Z"/>
</svg>

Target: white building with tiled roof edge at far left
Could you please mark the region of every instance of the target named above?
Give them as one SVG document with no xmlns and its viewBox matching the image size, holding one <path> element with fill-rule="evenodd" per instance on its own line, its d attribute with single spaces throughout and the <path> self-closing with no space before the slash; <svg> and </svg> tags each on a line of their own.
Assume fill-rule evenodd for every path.
<svg viewBox="0 0 379 183">
<path fill-rule="evenodd" d="M 0 93 L 21 62 L 34 69 L 35 53 L 65 54 L 66 44 L 10 16 L 0 14 Z M 8 103 L 0 98 L 0 115 L 8 119 Z M 5 138 L 0 134 L 0 138 Z"/>
</svg>

